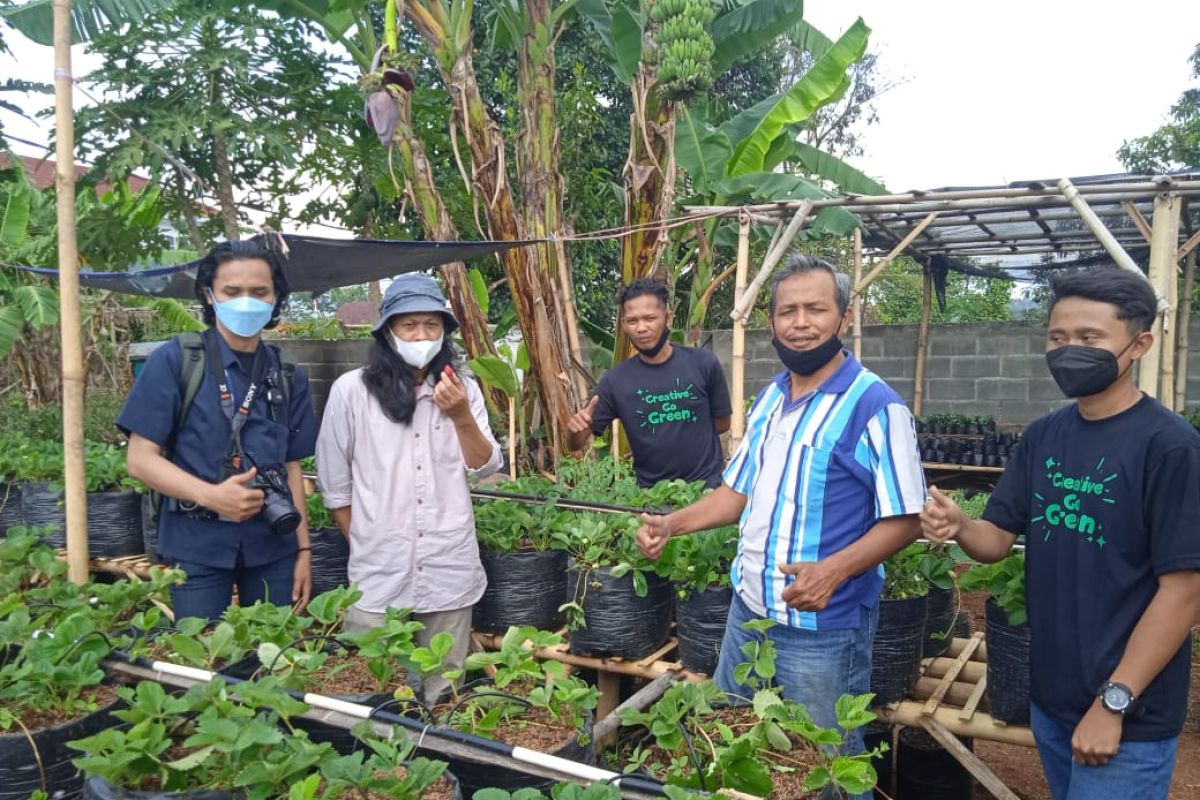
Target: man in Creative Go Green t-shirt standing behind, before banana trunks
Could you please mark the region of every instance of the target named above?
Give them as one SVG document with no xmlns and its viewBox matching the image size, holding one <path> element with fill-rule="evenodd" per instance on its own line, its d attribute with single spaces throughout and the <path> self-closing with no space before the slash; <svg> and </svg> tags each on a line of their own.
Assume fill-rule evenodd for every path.
<svg viewBox="0 0 1200 800">
<path fill-rule="evenodd" d="M 606 372 L 588 404 L 566 423 L 581 450 L 620 420 L 641 486 L 661 480 L 721 482 L 720 434 L 730 428 L 730 389 L 716 356 L 672 344 L 667 288 L 640 278 L 620 290 L 620 324 L 637 355 Z"/>
</svg>

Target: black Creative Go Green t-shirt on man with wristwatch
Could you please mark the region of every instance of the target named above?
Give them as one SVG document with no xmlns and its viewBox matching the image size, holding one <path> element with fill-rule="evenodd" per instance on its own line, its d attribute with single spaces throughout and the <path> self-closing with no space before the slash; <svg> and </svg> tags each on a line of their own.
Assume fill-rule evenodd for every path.
<svg viewBox="0 0 1200 800">
<path fill-rule="evenodd" d="M 1075 726 L 1124 654 L 1158 576 L 1200 570 L 1200 434 L 1142 397 L 1088 421 L 1073 403 L 1034 421 L 983 518 L 1025 535 L 1033 702 Z M 1122 739 L 1183 729 L 1190 639 L 1141 694 Z"/>
</svg>

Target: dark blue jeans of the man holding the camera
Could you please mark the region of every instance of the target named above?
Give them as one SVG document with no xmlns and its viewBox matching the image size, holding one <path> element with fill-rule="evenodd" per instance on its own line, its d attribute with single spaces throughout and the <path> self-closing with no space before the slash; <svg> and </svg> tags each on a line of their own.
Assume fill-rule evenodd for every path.
<svg viewBox="0 0 1200 800">
<path fill-rule="evenodd" d="M 170 590 L 175 619 L 221 619 L 233 600 L 234 583 L 238 584 L 238 602 L 242 606 L 251 606 L 259 600 L 276 606 L 292 603 L 294 555 L 259 566 L 242 566 L 239 557 L 239 563 L 232 570 L 196 561 L 175 561 L 173 566 L 187 573 L 187 579 Z"/>
</svg>

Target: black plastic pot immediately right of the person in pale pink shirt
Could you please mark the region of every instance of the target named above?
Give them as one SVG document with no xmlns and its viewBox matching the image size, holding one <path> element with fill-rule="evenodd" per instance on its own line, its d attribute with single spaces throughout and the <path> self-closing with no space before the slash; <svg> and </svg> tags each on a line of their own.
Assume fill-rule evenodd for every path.
<svg viewBox="0 0 1200 800">
<path fill-rule="evenodd" d="M 476 631 L 504 633 L 512 625 L 557 631 L 563 626 L 558 609 L 566 602 L 566 553 L 498 553 L 481 547 L 479 559 L 487 572 L 487 589 L 472 615 Z"/>
</svg>

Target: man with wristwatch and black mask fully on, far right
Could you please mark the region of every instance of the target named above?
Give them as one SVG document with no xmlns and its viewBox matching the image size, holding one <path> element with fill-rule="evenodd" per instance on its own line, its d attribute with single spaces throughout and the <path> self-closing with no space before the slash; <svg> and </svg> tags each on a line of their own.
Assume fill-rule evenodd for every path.
<svg viewBox="0 0 1200 800">
<path fill-rule="evenodd" d="M 1116 269 L 1051 284 L 1046 362 L 1075 403 L 1028 426 L 983 519 L 936 488 L 925 536 L 1026 541 L 1031 726 L 1055 800 L 1168 796 L 1200 610 L 1200 434 L 1130 367 L 1156 297 Z"/>
</svg>

